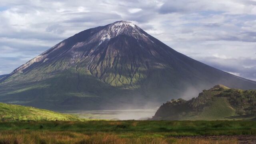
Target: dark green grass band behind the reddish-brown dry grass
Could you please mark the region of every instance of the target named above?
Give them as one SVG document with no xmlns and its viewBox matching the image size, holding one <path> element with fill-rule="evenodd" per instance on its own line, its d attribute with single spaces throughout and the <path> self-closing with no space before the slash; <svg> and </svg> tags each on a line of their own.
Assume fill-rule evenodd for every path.
<svg viewBox="0 0 256 144">
<path fill-rule="evenodd" d="M 256 134 L 254 121 L 50 121 L 0 122 L 2 130 L 71 131 L 84 134 L 103 132 L 122 137 L 166 137 L 195 135 L 251 135 Z"/>
</svg>

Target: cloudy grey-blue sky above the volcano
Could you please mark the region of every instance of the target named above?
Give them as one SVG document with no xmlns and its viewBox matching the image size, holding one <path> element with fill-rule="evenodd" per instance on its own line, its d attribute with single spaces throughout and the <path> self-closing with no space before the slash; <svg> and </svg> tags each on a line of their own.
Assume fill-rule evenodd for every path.
<svg viewBox="0 0 256 144">
<path fill-rule="evenodd" d="M 82 30 L 118 20 L 256 81 L 256 0 L 1 0 L 0 75 Z"/>
</svg>

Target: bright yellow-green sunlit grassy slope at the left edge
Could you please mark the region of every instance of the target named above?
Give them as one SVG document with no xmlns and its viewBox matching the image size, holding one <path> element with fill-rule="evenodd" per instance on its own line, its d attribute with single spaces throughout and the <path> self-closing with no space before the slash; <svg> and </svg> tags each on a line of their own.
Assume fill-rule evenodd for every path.
<svg viewBox="0 0 256 144">
<path fill-rule="evenodd" d="M 78 120 L 75 116 L 50 110 L 0 103 L 0 121 Z"/>
</svg>

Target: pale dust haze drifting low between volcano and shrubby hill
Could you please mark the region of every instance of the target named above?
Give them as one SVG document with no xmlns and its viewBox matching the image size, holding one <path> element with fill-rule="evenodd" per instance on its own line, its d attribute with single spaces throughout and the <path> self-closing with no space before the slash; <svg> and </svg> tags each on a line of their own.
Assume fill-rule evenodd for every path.
<svg viewBox="0 0 256 144">
<path fill-rule="evenodd" d="M 170 98 L 166 99 L 166 101 L 170 101 L 171 99 L 182 98 L 184 100 L 190 100 L 191 98 L 197 97 L 203 89 L 209 89 L 211 86 L 189 86 L 187 87 L 183 93 L 170 96 Z M 155 100 L 148 100 L 146 104 L 143 106 L 139 106 L 140 99 L 130 99 L 130 104 L 126 104 L 123 106 L 116 106 L 113 109 L 113 106 L 105 107 L 104 110 L 81 110 L 81 111 L 73 111 L 73 112 L 65 112 L 76 114 L 80 118 L 86 119 L 104 119 L 104 120 L 149 120 L 154 116 L 158 108 L 162 105 L 162 103 L 156 102 Z M 163 103 L 164 103 L 163 102 Z"/>
</svg>

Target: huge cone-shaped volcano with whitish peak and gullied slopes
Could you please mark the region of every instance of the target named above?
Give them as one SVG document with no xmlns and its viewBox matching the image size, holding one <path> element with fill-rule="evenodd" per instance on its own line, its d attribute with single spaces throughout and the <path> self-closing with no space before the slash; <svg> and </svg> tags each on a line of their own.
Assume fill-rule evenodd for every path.
<svg viewBox="0 0 256 144">
<path fill-rule="evenodd" d="M 256 88 L 256 82 L 180 54 L 125 21 L 75 34 L 0 82 L 1 102 L 56 110 L 158 106 L 218 83 Z"/>
</svg>

